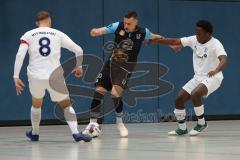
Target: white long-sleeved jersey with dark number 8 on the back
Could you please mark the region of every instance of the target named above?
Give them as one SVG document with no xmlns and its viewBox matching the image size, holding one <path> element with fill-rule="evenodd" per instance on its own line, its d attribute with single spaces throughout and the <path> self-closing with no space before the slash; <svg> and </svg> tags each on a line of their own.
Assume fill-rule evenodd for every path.
<svg viewBox="0 0 240 160">
<path fill-rule="evenodd" d="M 20 40 L 23 46 L 20 45 L 16 57 L 14 77 L 19 76 L 22 66 L 21 58 L 24 59 L 25 55 L 23 54 L 26 54 L 26 49 L 29 53 L 28 77 L 36 79 L 49 79 L 51 73 L 60 66 L 61 47 L 75 52 L 76 56 L 82 55 L 81 47 L 76 45 L 66 34 L 49 27 L 30 30 Z M 19 61 L 20 64 L 18 64 Z"/>
</svg>

